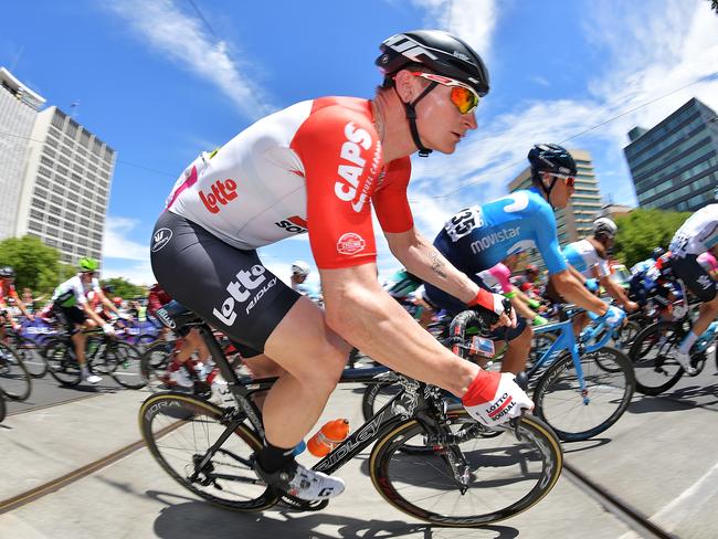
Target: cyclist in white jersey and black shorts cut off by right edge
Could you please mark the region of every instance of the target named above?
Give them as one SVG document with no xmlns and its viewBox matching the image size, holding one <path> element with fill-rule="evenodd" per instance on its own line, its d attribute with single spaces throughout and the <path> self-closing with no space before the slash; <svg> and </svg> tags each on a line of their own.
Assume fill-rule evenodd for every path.
<svg viewBox="0 0 718 539">
<path fill-rule="evenodd" d="M 669 250 L 671 268 L 703 302 L 700 316 L 678 347 L 675 358 L 688 374 L 694 374 L 696 369 L 690 364 L 690 347 L 718 316 L 716 282 L 697 260 L 707 251 L 718 250 L 718 204 L 708 204 L 690 215 L 674 234 Z"/>
</svg>

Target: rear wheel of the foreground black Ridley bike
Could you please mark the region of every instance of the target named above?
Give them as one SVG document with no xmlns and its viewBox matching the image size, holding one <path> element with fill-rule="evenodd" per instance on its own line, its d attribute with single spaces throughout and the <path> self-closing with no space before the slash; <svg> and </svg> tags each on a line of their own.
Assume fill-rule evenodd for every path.
<svg viewBox="0 0 718 539">
<path fill-rule="evenodd" d="M 139 409 L 139 425 L 155 461 L 191 493 L 236 511 L 272 507 L 279 498 L 257 479 L 253 467 L 254 453 L 262 447 L 262 441 L 245 424 L 237 426 L 235 436 L 230 436 L 204 469 L 192 478 L 191 475 L 198 473 L 196 464 L 225 430 L 224 413 L 202 399 L 163 392 L 145 400 Z M 219 468 L 224 473 L 213 477 Z M 241 477 L 230 478 L 240 471 Z M 188 475 L 190 472 L 192 474 Z"/>
</svg>

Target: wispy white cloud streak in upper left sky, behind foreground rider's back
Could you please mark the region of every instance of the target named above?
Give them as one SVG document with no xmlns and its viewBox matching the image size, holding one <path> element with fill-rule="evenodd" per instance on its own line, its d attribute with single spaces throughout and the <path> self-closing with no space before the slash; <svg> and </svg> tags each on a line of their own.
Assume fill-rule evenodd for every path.
<svg viewBox="0 0 718 539">
<path fill-rule="evenodd" d="M 273 110 L 230 54 L 230 44 L 214 42 L 198 17 L 181 12 L 170 0 L 125 0 L 108 2 L 108 9 L 126 19 L 142 39 L 172 62 L 213 83 L 249 118 L 260 118 Z"/>
</svg>

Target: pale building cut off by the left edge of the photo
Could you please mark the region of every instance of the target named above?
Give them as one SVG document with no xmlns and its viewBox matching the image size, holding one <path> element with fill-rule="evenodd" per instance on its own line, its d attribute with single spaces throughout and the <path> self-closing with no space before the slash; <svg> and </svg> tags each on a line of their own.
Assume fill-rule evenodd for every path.
<svg viewBox="0 0 718 539">
<path fill-rule="evenodd" d="M 14 235 L 28 142 L 45 99 L 0 67 L 0 240 Z"/>
</svg>

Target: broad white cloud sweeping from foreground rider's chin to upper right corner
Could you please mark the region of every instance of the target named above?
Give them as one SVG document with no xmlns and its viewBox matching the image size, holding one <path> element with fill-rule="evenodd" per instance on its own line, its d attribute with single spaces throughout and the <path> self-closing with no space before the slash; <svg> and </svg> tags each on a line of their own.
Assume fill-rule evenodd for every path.
<svg viewBox="0 0 718 539">
<path fill-rule="evenodd" d="M 714 73 L 718 67 L 718 33 L 707 2 L 666 1 L 620 6 L 595 3 L 588 12 L 587 28 L 593 46 L 605 50 L 605 63 L 587 83 L 589 97 L 518 103 L 469 135 L 453 156 L 414 159 L 411 199 L 418 219 L 437 230 L 441 210 L 451 212 L 468 203 L 481 203 L 503 192 L 509 179 L 526 165 L 526 154 L 537 141 L 560 142 L 632 107 Z M 621 17 L 615 17 L 620 12 Z M 682 13 L 682 17 L 675 17 Z M 641 21 L 641 23 L 637 23 Z M 690 97 L 718 108 L 718 77 L 712 77 L 658 101 L 568 142 L 569 148 L 596 146 L 620 163 L 629 178 L 623 157 L 626 133 L 635 125 L 651 127 Z M 481 112 L 479 112 L 481 115 Z M 596 155 L 594 154 L 594 161 Z M 601 170 L 596 170 L 601 179 Z M 614 179 L 613 181 L 620 181 Z M 627 182 L 602 186 L 604 192 L 631 195 Z M 458 192 L 456 189 L 464 188 Z M 452 194 L 450 194 L 452 193 Z M 431 228 L 433 226 L 433 229 Z"/>
</svg>

